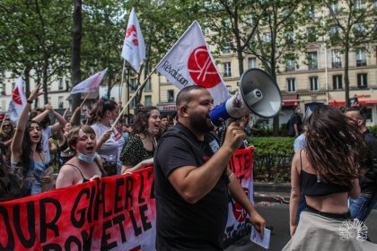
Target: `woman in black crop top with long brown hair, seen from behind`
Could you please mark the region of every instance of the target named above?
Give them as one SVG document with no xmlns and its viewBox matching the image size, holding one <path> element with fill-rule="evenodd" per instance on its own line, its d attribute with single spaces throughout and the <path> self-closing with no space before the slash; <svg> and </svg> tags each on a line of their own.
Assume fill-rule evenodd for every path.
<svg viewBox="0 0 377 251">
<path fill-rule="evenodd" d="M 351 220 L 348 196 L 355 198 L 360 193 L 364 135 L 338 108 L 327 105 L 312 112 L 306 129 L 306 145 L 296 151 L 292 162 L 292 239 L 283 250 L 365 250 L 373 246 L 356 240 L 357 234 L 350 236 L 351 241 L 343 241 L 340 235 L 343 222 Z M 297 225 L 302 194 L 307 205 Z"/>
</svg>

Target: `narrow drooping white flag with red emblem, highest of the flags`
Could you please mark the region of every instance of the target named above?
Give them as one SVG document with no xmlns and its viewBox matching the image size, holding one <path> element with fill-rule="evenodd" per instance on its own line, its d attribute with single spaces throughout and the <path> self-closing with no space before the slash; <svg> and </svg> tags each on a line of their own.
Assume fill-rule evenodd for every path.
<svg viewBox="0 0 377 251">
<path fill-rule="evenodd" d="M 129 14 L 122 56 L 137 73 L 140 72 L 141 62 L 145 60 L 145 43 L 134 8 Z"/>
</svg>

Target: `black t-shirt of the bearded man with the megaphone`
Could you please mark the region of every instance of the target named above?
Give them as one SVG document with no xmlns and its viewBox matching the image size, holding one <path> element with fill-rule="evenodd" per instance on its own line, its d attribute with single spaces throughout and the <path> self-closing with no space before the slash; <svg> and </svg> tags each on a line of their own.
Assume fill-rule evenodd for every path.
<svg viewBox="0 0 377 251">
<path fill-rule="evenodd" d="M 183 125 L 162 136 L 154 155 L 157 250 L 223 250 L 228 215 L 228 179 L 224 175 L 197 203 L 187 203 L 168 180 L 174 169 L 200 167 L 218 149 L 214 134 L 205 142 Z M 224 163 L 225 169 L 226 163 Z"/>
</svg>

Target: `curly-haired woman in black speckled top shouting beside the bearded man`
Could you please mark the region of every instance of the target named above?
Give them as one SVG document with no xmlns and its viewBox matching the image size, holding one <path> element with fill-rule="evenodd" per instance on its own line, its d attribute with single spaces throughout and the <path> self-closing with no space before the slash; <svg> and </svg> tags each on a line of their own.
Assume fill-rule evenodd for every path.
<svg viewBox="0 0 377 251">
<path fill-rule="evenodd" d="M 160 129 L 161 116 L 156 107 L 144 107 L 138 111 L 134 129 L 120 157 L 122 174 L 153 165 L 153 153 L 157 146 L 155 135 Z"/>
</svg>

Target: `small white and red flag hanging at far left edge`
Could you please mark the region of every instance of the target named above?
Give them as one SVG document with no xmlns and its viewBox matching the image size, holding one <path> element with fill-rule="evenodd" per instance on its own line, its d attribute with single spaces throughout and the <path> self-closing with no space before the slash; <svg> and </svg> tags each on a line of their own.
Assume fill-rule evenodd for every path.
<svg viewBox="0 0 377 251">
<path fill-rule="evenodd" d="M 8 111 L 6 112 L 13 125 L 17 124 L 18 117 L 20 117 L 22 109 L 25 107 L 25 105 L 26 96 L 23 90 L 22 77 L 19 77 L 13 89 L 12 100 L 9 102 Z"/>
</svg>

